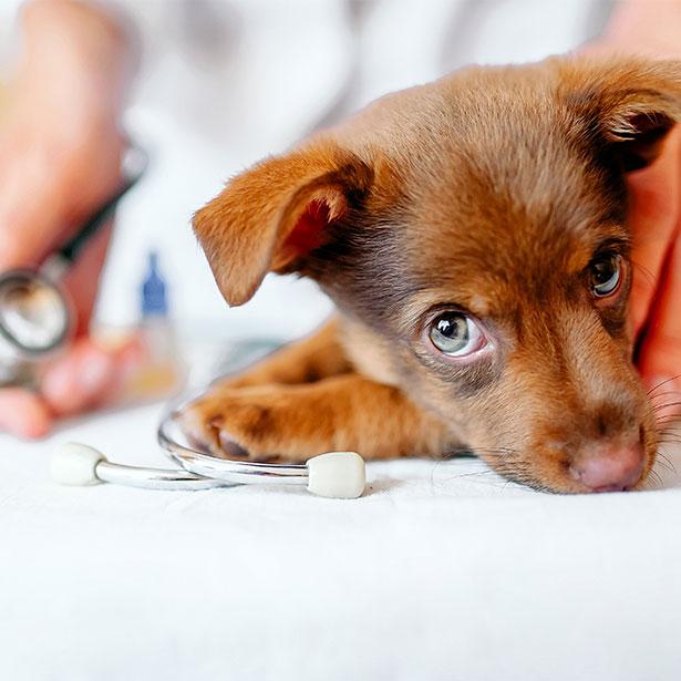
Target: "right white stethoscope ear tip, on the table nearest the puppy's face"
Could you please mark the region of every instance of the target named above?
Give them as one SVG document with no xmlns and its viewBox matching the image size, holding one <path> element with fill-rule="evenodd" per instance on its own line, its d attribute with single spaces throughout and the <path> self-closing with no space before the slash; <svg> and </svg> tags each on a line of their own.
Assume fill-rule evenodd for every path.
<svg viewBox="0 0 681 681">
<path fill-rule="evenodd" d="M 364 494 L 364 460 L 355 452 L 329 452 L 310 458 L 308 489 L 318 496 L 355 499 Z"/>
</svg>

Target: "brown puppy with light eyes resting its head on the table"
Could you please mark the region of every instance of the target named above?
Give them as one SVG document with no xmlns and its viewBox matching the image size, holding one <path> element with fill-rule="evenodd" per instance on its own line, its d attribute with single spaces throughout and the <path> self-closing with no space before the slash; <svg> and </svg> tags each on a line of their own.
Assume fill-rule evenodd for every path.
<svg viewBox="0 0 681 681">
<path fill-rule="evenodd" d="M 338 316 L 184 427 L 254 458 L 470 447 L 541 489 L 636 486 L 657 441 L 626 322 L 625 174 L 680 115 L 679 63 L 472 68 L 236 177 L 194 223 L 227 301 L 299 272 Z"/>
</svg>

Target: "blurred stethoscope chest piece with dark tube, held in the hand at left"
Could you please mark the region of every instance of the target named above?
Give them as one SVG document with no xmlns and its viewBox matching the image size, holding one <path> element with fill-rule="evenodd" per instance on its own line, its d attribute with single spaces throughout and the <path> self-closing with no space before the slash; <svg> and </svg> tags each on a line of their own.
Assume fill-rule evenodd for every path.
<svg viewBox="0 0 681 681">
<path fill-rule="evenodd" d="M 145 168 L 146 154 L 130 147 L 122 159 L 121 188 L 71 239 L 38 270 L 17 269 L 0 275 L 0 386 L 31 385 L 41 362 L 71 339 L 75 319 L 62 287 L 63 278 Z"/>
</svg>

